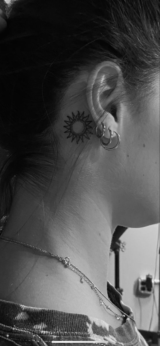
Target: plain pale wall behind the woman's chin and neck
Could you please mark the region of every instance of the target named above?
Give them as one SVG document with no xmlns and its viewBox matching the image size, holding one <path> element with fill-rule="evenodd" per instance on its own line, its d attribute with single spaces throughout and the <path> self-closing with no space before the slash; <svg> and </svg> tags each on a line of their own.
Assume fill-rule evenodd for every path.
<svg viewBox="0 0 160 346">
<path fill-rule="evenodd" d="M 123 301 L 129 305 L 134 313 L 138 329 L 149 330 L 152 315 L 153 294 L 149 297 L 136 297 L 135 286 L 139 276 L 150 274 L 154 279 L 156 251 L 158 242 L 158 224 L 143 228 L 128 228 L 120 237 L 126 242 L 125 252 L 120 251 L 119 259 L 119 286 L 123 288 Z M 158 244 L 159 253 L 159 244 Z M 109 257 L 110 268 L 108 280 L 114 285 L 115 255 Z M 157 256 L 157 270 L 155 279 L 159 279 L 159 254 Z M 155 301 L 159 309 L 159 284 L 154 286 Z M 157 311 L 158 312 L 158 311 Z M 158 315 L 155 305 L 150 331 L 158 330 Z"/>
</svg>

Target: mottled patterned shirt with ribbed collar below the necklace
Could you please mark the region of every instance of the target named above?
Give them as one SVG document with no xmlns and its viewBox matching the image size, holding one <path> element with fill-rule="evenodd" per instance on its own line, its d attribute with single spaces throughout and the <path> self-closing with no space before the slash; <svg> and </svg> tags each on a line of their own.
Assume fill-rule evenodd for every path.
<svg viewBox="0 0 160 346">
<path fill-rule="evenodd" d="M 123 303 L 122 295 L 109 281 L 107 292 L 110 301 L 134 318 L 132 309 Z M 114 329 L 95 317 L 0 300 L 0 346 L 14 345 L 148 346 L 135 322 L 128 317 L 122 326 Z"/>
</svg>

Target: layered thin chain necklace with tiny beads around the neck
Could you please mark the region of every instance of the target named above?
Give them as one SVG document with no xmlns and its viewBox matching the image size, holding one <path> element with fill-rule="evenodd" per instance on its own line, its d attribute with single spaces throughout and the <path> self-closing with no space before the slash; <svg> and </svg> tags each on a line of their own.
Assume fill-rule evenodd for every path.
<svg viewBox="0 0 160 346">
<path fill-rule="evenodd" d="M 1 234 L 2 234 L 2 233 L 1 233 Z M 63 257 L 61 257 L 61 256 L 59 256 L 59 255 L 53 255 L 51 252 L 48 252 L 48 251 L 43 250 L 43 249 L 41 249 L 41 248 L 38 248 L 38 247 L 36 247 L 36 246 L 29 245 L 29 244 L 26 244 L 26 243 L 22 243 L 22 242 L 19 242 L 18 240 L 14 240 L 14 239 L 11 239 L 11 238 L 5 238 L 5 237 L 2 237 L 1 235 L 0 235 L 0 239 L 2 239 L 4 242 L 15 243 L 15 244 L 18 244 L 18 245 L 21 245 L 21 246 L 24 246 L 24 247 L 27 247 L 27 248 L 30 248 L 30 249 L 33 249 L 33 250 L 37 250 L 37 251 L 39 251 L 39 252 L 41 252 L 41 253 L 44 253 L 44 254 L 46 254 L 46 255 L 48 255 L 48 256 L 57 258 L 57 259 L 58 259 L 59 261 L 61 261 L 65 266 L 67 266 L 69 269 L 73 270 L 76 274 L 78 274 L 78 275 L 80 276 L 80 278 L 81 278 L 81 279 L 80 279 L 81 282 L 86 281 L 86 282 L 91 286 L 91 289 L 93 289 L 93 290 L 95 291 L 95 293 L 97 294 L 97 296 L 98 296 L 98 298 L 99 298 L 100 305 L 105 305 L 106 309 L 112 311 L 112 312 L 114 313 L 114 315 L 115 315 L 115 317 L 116 317 L 117 320 L 119 320 L 120 317 L 125 318 L 125 317 L 127 316 L 127 317 L 129 317 L 131 320 L 133 320 L 133 321 L 135 322 L 135 320 L 134 320 L 133 318 L 131 318 L 130 316 L 128 316 L 125 312 L 123 312 L 123 311 L 120 310 L 119 308 L 118 308 L 119 311 L 123 312 L 123 315 L 118 315 L 116 312 L 114 312 L 112 309 L 110 309 L 110 306 L 107 305 L 107 304 L 104 302 L 104 300 L 100 297 L 99 293 L 100 293 L 101 295 L 103 295 L 104 298 L 106 298 L 105 295 L 104 295 L 102 292 L 100 292 L 100 290 L 97 288 L 97 286 L 95 286 L 94 283 L 93 283 L 91 280 L 89 280 L 88 277 L 87 277 L 84 273 L 82 273 L 76 266 L 74 266 L 74 265 L 70 262 L 70 258 L 69 258 L 69 257 L 63 258 Z M 98 291 L 99 293 L 98 293 L 97 291 Z M 110 300 L 109 300 L 108 298 L 106 298 L 106 299 L 110 302 Z M 112 302 L 110 302 L 110 303 L 113 304 Z M 114 305 L 114 304 L 113 304 L 113 305 Z M 114 305 L 114 306 L 116 307 L 116 305 Z M 117 307 L 116 307 L 116 308 L 117 308 Z M 135 322 L 135 323 L 136 323 L 136 322 Z"/>
</svg>

